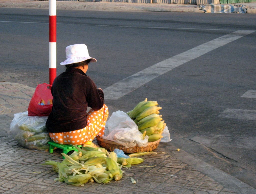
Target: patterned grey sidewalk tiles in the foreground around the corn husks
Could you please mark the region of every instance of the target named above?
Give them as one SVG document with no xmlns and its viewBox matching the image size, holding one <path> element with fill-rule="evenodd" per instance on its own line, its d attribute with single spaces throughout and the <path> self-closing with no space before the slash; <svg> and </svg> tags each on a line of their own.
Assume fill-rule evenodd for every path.
<svg viewBox="0 0 256 194">
<path fill-rule="evenodd" d="M 46 160 L 62 161 L 60 150 L 54 153 L 25 149 L 10 140 L 0 144 L 0 193 L 26 194 L 234 194 L 219 182 L 191 168 L 161 148 L 157 154 L 141 156 L 144 162 L 122 168 L 123 178 L 108 184 L 86 183 L 83 187 L 54 181 L 58 174 Z M 130 177 L 137 183 L 133 184 Z"/>
</svg>

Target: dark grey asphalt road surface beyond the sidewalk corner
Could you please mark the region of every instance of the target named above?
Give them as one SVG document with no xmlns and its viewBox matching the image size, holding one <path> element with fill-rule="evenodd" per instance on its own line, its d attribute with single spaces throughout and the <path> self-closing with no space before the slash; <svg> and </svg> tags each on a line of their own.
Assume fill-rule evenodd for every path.
<svg viewBox="0 0 256 194">
<path fill-rule="evenodd" d="M 0 8 L 0 13 L 0 81 L 48 83 L 48 10 Z M 169 144 L 256 188 L 255 19 L 254 14 L 58 10 L 57 75 L 64 71 L 58 64 L 66 46 L 87 44 L 98 60 L 87 74 L 104 91 L 118 83 L 123 93 L 116 99 L 106 95 L 111 112 L 129 111 L 145 98 L 158 101 L 173 139 Z M 129 78 L 122 85 L 145 69 L 147 77 L 166 69 L 163 61 L 174 58 L 180 64 L 175 61 L 173 69 L 150 81 Z M 241 97 L 248 91 L 252 95 Z"/>
</svg>

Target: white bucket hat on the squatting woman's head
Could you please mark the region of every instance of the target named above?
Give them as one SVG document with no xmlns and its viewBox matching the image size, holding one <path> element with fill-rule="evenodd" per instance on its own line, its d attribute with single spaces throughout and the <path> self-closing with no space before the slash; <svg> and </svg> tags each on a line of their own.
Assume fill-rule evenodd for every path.
<svg viewBox="0 0 256 194">
<path fill-rule="evenodd" d="M 73 44 L 66 47 L 66 60 L 61 62 L 61 65 L 68 65 L 72 63 L 78 63 L 91 59 L 91 62 L 96 62 L 97 60 L 90 57 L 88 53 L 87 46 L 85 44 Z"/>
</svg>

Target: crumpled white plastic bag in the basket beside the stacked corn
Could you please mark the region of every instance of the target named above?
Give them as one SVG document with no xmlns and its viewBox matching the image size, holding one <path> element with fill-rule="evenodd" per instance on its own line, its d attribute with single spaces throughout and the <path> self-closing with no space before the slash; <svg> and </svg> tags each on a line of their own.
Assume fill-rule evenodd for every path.
<svg viewBox="0 0 256 194">
<path fill-rule="evenodd" d="M 103 136 L 106 140 L 114 141 L 126 148 L 134 147 L 136 144 L 139 147 L 148 145 L 148 136 L 144 137 L 136 123 L 123 111 L 113 112 L 106 122 L 106 128 Z"/>
</svg>

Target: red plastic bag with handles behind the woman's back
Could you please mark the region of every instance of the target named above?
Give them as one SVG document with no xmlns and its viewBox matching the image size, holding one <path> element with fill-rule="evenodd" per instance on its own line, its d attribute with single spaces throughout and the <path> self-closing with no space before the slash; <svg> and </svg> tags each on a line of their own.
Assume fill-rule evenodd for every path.
<svg viewBox="0 0 256 194">
<path fill-rule="evenodd" d="M 28 105 L 28 116 L 49 116 L 52 108 L 51 85 L 38 84 Z"/>
</svg>

